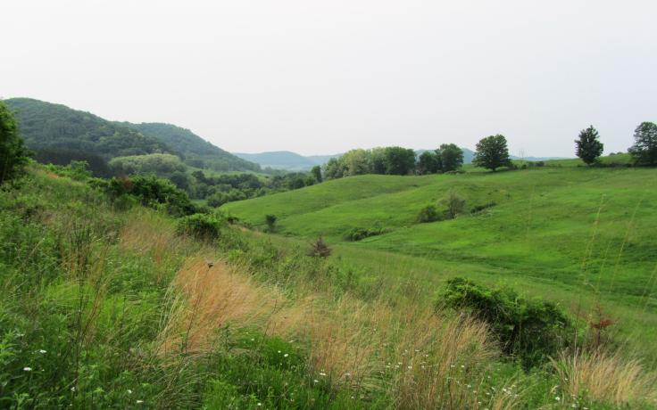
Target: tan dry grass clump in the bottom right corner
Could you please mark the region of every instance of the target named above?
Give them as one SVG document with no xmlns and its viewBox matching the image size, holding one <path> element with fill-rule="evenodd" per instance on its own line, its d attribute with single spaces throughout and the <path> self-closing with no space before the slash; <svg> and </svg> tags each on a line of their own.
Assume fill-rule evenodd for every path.
<svg viewBox="0 0 657 410">
<path fill-rule="evenodd" d="M 656 403 L 654 375 L 646 373 L 637 360 L 602 351 L 562 354 L 553 360 L 562 388 L 570 396 L 585 396 L 617 406 L 631 406 L 642 400 Z"/>
</svg>

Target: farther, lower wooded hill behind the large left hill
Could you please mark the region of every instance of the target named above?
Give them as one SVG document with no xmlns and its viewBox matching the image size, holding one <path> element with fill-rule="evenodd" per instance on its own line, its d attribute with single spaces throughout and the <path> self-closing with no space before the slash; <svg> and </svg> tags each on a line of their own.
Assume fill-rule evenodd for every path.
<svg viewBox="0 0 657 410">
<path fill-rule="evenodd" d="M 160 122 L 132 124 L 118 123 L 148 137 L 156 138 L 184 156 L 187 165 L 196 168 L 211 168 L 217 171 L 260 171 L 260 165 L 238 158 L 205 141 L 187 128 Z"/>
</svg>

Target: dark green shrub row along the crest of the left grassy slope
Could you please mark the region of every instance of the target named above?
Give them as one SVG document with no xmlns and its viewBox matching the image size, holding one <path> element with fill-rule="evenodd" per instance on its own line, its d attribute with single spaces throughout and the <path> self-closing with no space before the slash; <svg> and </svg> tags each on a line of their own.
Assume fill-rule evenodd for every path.
<svg viewBox="0 0 657 410">
<path fill-rule="evenodd" d="M 156 176 L 112 178 L 105 189 L 112 198 L 132 195 L 137 197 L 142 205 L 154 209 L 164 209 L 176 217 L 191 215 L 196 211 L 194 204 L 189 201 L 187 193 L 179 190 L 168 179 Z"/>
</svg>

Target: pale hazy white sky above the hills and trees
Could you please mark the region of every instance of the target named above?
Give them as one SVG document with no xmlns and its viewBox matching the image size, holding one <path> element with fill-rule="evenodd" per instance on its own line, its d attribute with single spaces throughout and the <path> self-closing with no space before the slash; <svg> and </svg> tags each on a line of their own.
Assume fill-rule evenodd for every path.
<svg viewBox="0 0 657 410">
<path fill-rule="evenodd" d="M 0 96 L 168 122 L 230 152 L 574 156 L 657 121 L 654 0 L 4 0 Z"/>
</svg>

